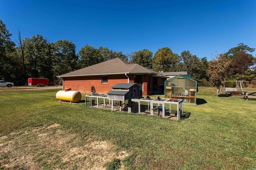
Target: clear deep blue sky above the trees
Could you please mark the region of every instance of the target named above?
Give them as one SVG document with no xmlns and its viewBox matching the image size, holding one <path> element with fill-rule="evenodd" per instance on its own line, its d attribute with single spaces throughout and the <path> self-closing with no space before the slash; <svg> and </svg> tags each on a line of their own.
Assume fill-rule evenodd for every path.
<svg viewBox="0 0 256 170">
<path fill-rule="evenodd" d="M 0 0 L 12 41 L 40 34 L 123 54 L 169 47 L 210 61 L 244 43 L 256 48 L 256 0 Z M 256 52 L 252 53 L 255 57 Z"/>
</svg>

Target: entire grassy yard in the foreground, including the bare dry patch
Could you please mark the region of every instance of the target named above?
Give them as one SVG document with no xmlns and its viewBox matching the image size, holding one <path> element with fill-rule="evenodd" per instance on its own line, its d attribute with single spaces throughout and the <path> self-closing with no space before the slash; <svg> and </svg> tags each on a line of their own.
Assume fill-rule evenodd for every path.
<svg viewBox="0 0 256 170">
<path fill-rule="evenodd" d="M 256 100 L 199 88 L 177 121 L 60 103 L 57 91 L 0 89 L 0 169 L 256 169 Z"/>
</svg>

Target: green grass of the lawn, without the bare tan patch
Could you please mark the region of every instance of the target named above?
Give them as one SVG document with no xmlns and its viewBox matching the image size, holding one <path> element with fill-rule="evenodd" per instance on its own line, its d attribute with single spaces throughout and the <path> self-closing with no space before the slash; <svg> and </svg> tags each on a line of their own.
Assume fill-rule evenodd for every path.
<svg viewBox="0 0 256 170">
<path fill-rule="evenodd" d="M 115 146 L 114 152 L 124 150 L 128 156 L 121 162 L 127 169 L 256 168 L 256 100 L 216 97 L 216 88 L 199 88 L 200 105 L 184 105 L 190 116 L 177 121 L 60 103 L 57 91 L 0 90 L 0 149 L 5 146 L 1 142 L 11 141 L 11 134 L 15 137 L 14 132 L 19 132 L 18 137 L 21 131 L 58 123 L 66 134 L 90 142 L 108 141 Z M 87 142 L 80 140 L 79 146 Z M 38 160 L 31 151 L 39 169 L 82 167 L 83 160 L 64 165 L 62 157 L 54 157 L 57 152 L 52 150 Z M 11 156 L 0 152 L 0 169 Z"/>
</svg>

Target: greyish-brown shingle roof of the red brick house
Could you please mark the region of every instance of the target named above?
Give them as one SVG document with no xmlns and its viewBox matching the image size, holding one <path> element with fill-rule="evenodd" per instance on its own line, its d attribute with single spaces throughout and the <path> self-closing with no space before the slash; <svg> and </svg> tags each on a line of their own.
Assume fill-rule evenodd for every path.
<svg viewBox="0 0 256 170">
<path fill-rule="evenodd" d="M 62 74 L 58 77 L 72 76 L 90 76 L 90 75 L 110 75 L 110 74 L 158 74 L 157 72 L 140 66 L 139 64 L 131 63 L 127 60 L 115 58 L 102 63 L 94 64 L 76 71 Z"/>
</svg>

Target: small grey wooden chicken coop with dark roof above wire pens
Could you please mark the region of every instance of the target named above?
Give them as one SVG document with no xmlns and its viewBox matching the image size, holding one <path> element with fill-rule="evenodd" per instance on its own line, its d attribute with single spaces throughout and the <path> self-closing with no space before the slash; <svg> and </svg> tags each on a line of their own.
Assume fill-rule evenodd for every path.
<svg viewBox="0 0 256 170">
<path fill-rule="evenodd" d="M 118 83 L 107 93 L 108 100 L 125 101 L 131 98 L 142 97 L 140 86 L 136 83 Z"/>
</svg>

